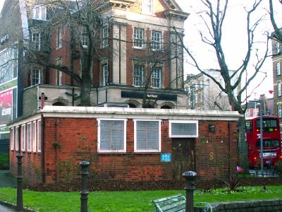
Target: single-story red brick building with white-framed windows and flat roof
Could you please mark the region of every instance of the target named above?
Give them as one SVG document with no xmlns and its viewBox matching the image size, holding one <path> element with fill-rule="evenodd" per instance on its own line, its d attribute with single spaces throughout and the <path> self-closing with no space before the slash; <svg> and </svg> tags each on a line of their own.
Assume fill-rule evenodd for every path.
<svg viewBox="0 0 282 212">
<path fill-rule="evenodd" d="M 10 124 L 10 167 L 26 183 L 64 182 L 89 160 L 97 179 L 202 179 L 236 171 L 240 114 L 231 111 L 45 106 Z"/>
</svg>

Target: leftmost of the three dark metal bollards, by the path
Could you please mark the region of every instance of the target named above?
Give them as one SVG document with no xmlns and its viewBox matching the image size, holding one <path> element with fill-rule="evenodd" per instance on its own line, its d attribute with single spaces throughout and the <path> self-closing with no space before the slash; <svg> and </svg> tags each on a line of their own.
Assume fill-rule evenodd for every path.
<svg viewBox="0 0 282 212">
<path fill-rule="evenodd" d="M 23 212 L 23 173 L 22 173 L 22 158 L 23 153 L 16 155 L 18 158 L 18 176 L 17 176 L 17 206 L 16 211 Z"/>
</svg>

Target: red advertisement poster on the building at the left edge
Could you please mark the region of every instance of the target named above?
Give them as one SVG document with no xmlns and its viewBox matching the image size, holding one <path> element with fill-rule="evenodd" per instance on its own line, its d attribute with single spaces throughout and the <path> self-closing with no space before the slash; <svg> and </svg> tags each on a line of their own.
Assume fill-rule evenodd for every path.
<svg viewBox="0 0 282 212">
<path fill-rule="evenodd" d="M 0 93 L 0 126 L 12 120 L 13 90 Z"/>
</svg>

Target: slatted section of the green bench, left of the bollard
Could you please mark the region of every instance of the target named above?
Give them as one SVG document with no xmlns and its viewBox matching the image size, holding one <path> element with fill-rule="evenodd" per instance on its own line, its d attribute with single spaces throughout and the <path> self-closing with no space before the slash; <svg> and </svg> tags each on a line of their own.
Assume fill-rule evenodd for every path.
<svg viewBox="0 0 282 212">
<path fill-rule="evenodd" d="M 157 212 L 185 212 L 185 202 L 186 199 L 182 194 L 176 194 L 152 201 L 156 206 Z"/>
</svg>

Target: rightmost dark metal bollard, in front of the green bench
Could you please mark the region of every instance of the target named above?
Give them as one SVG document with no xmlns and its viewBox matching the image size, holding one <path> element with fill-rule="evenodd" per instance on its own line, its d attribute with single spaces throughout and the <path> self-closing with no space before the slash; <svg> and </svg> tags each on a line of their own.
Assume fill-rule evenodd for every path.
<svg viewBox="0 0 282 212">
<path fill-rule="evenodd" d="M 195 177 L 197 176 L 196 172 L 188 171 L 184 172 L 182 175 L 186 180 L 186 204 L 185 212 L 194 212 L 194 190 L 195 188 Z"/>
</svg>

